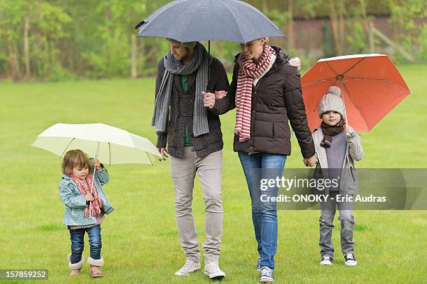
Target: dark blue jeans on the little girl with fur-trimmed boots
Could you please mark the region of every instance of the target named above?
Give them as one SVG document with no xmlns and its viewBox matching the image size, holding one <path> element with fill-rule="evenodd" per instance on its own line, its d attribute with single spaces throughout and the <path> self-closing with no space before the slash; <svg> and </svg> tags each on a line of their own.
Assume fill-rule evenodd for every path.
<svg viewBox="0 0 427 284">
<path fill-rule="evenodd" d="M 100 259 L 100 249 L 103 244 L 100 236 L 100 225 L 89 228 L 70 230 L 71 239 L 71 263 L 77 263 L 82 260 L 84 250 L 84 232 L 89 236 L 89 246 L 91 246 L 91 257 L 94 260 Z"/>
</svg>

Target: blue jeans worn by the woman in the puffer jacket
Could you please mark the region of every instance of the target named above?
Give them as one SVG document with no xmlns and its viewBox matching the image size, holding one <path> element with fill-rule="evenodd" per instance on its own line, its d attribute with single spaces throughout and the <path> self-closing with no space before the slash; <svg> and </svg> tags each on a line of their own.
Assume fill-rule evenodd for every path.
<svg viewBox="0 0 427 284">
<path fill-rule="evenodd" d="M 265 198 L 266 195 L 277 196 L 278 188 L 272 186 L 262 190 L 260 183 L 261 179 L 282 177 L 286 156 L 239 152 L 239 159 L 249 188 L 253 228 L 258 244 L 257 250 L 261 257 L 260 265 L 274 269 L 274 255 L 277 250 L 276 202 L 262 202 L 262 198 Z M 264 197 L 262 197 L 263 195 Z"/>
</svg>

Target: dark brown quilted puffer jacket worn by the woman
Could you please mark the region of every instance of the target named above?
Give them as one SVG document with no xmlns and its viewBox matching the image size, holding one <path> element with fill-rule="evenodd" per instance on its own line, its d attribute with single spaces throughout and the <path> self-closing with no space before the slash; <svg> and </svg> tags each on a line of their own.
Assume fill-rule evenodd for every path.
<svg viewBox="0 0 427 284">
<path fill-rule="evenodd" d="M 288 119 L 301 148 L 304 158 L 315 154 L 313 138 L 308 128 L 306 109 L 301 94 L 301 78 L 296 67 L 290 66 L 291 58 L 280 47 L 276 50 L 276 61 L 271 69 L 252 89 L 252 114 L 250 116 L 250 140 L 239 142 L 234 135 L 234 151 L 264 152 L 269 154 L 291 154 L 290 127 Z M 233 70 L 231 90 L 227 100 L 234 107 L 239 64 Z"/>
</svg>

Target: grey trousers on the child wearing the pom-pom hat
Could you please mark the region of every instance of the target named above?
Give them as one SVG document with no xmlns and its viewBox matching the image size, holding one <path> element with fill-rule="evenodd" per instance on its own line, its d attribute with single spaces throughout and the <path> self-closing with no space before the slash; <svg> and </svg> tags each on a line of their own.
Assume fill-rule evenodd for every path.
<svg viewBox="0 0 427 284">
<path fill-rule="evenodd" d="M 340 216 L 338 220 L 341 223 L 341 251 L 344 253 L 354 253 L 354 216 L 353 202 L 337 202 L 336 194 L 338 191 L 329 191 L 329 197 L 326 202 L 320 202 L 322 212 L 320 214 L 320 253 L 322 256 L 334 258 L 334 244 L 332 244 L 332 230 L 334 229 L 335 210 L 338 207 Z"/>
</svg>

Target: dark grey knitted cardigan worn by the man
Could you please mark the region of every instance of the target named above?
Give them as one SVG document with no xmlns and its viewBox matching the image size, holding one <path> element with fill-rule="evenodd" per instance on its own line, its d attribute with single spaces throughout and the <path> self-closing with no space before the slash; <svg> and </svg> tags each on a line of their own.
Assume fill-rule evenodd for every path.
<svg viewBox="0 0 427 284">
<path fill-rule="evenodd" d="M 212 58 L 210 66 L 210 80 L 209 85 L 211 91 L 230 91 L 230 84 L 227 79 L 227 73 L 223 63 L 215 57 Z M 165 73 L 165 66 L 163 65 L 163 58 L 158 63 L 158 73 L 156 78 L 156 96 L 160 89 L 160 84 Z M 171 156 L 183 157 L 184 148 L 184 129 L 187 128 L 188 135 L 195 153 L 198 157 L 202 158 L 213 152 L 223 149 L 223 133 L 221 132 L 221 123 L 218 117 L 219 114 L 224 114 L 230 107 L 225 98 L 216 100 L 212 109 L 208 109 L 208 125 L 209 133 L 194 137 L 193 135 L 193 114 L 194 114 L 194 100 L 195 100 L 195 79 L 196 73 L 187 76 L 188 89 L 184 93 L 181 85 L 181 76 L 174 75 L 174 82 L 172 84 L 172 96 L 170 99 L 170 114 L 167 121 L 167 130 L 165 132 L 157 133 L 157 147 L 165 148 L 167 144 L 167 151 Z M 202 96 L 202 94 L 197 94 Z"/>
</svg>

